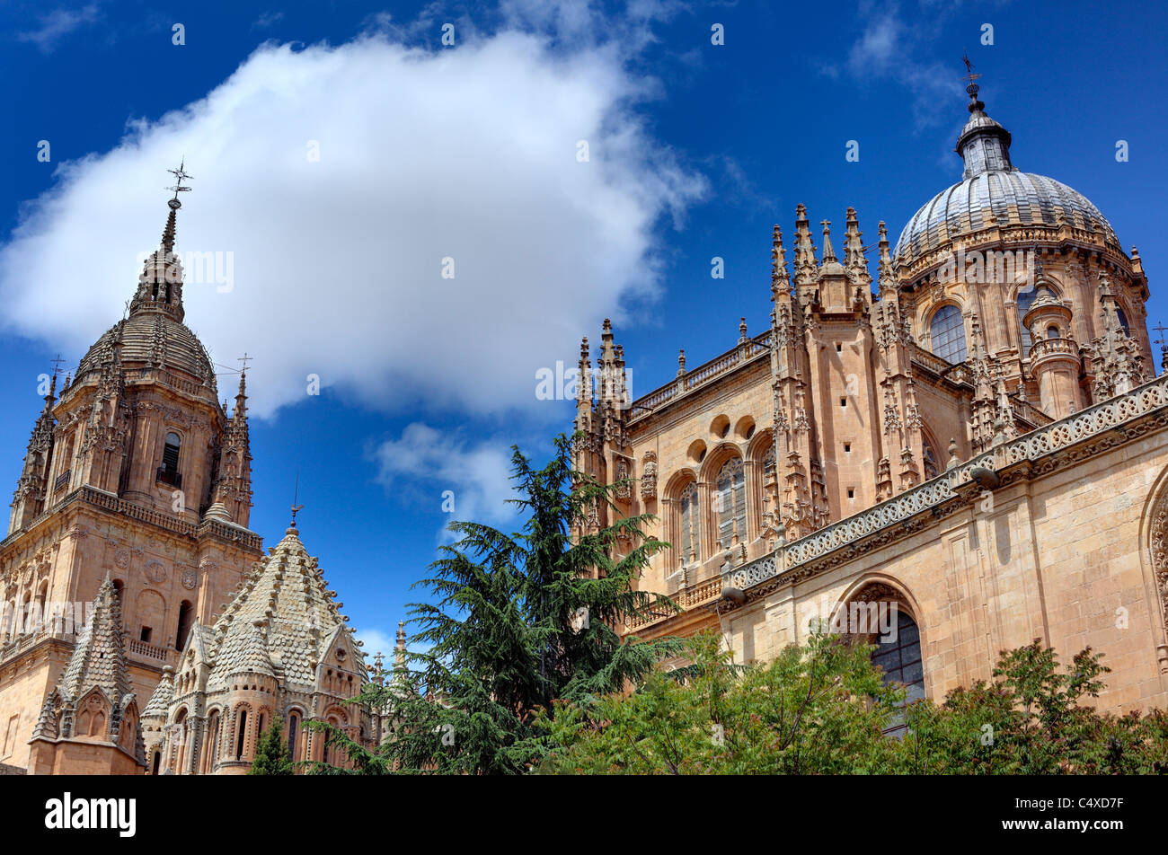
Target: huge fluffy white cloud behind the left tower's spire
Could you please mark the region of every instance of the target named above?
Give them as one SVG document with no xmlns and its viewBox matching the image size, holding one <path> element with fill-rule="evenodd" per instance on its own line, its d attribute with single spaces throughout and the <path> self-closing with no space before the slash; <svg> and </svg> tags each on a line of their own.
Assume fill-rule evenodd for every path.
<svg viewBox="0 0 1168 855">
<path fill-rule="evenodd" d="M 540 368 L 652 297 L 654 230 L 704 192 L 641 124 L 652 92 L 611 46 L 535 28 L 264 46 L 57 168 L 0 248 L 2 322 L 79 356 L 131 296 L 186 155 L 187 322 L 216 362 L 256 357 L 258 415 L 308 375 L 389 411 L 531 411 Z"/>
</svg>

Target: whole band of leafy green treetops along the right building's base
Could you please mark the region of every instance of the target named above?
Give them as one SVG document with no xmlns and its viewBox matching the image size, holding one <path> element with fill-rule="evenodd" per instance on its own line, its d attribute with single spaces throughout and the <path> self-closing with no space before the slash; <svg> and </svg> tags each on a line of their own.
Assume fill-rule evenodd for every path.
<svg viewBox="0 0 1168 855">
<path fill-rule="evenodd" d="M 769 665 L 735 667 L 710 633 L 687 642 L 684 681 L 561 702 L 541 771 L 584 774 L 1146 774 L 1168 772 L 1168 715 L 1082 702 L 1107 668 L 1090 648 L 1059 669 L 1037 641 L 1003 652 L 993 681 L 944 703 L 901 704 L 871 646 L 813 635 Z M 889 727 L 905 723 L 899 738 Z"/>
</svg>

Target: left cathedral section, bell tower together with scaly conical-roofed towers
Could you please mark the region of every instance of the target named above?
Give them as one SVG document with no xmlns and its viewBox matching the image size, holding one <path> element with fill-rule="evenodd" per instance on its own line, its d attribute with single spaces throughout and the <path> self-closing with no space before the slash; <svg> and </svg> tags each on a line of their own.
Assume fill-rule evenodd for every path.
<svg viewBox="0 0 1168 855">
<path fill-rule="evenodd" d="M 311 720 L 380 738 L 342 703 L 369 675 L 296 510 L 267 555 L 248 528 L 245 371 L 228 415 L 183 324 L 172 172 L 126 317 L 60 395 L 54 375 L 28 443 L 0 542 L 0 771 L 239 774 L 277 721 L 296 760 L 345 763 Z"/>
</svg>

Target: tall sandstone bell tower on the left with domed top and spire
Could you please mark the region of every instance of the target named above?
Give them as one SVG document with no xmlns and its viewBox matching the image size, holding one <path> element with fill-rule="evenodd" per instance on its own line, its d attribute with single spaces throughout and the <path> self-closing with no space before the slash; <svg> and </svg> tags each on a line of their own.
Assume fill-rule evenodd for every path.
<svg viewBox="0 0 1168 855">
<path fill-rule="evenodd" d="M 181 165 L 171 173 L 161 243 L 125 317 L 60 395 L 54 378 L 0 541 L 0 762 L 8 765 L 28 764 L 36 710 L 74 655 L 85 604 L 117 600 L 126 680 L 146 698 L 178 665 L 192 626 L 213 624 L 263 556 L 248 529 L 245 381 L 241 371 L 229 418 L 210 356 L 183 324 L 174 248 L 192 176 Z"/>
</svg>

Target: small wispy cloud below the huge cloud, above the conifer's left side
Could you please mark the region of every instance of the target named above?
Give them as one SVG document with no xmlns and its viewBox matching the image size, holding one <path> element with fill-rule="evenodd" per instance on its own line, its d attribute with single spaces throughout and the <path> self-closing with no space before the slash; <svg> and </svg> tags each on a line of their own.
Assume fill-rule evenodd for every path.
<svg viewBox="0 0 1168 855">
<path fill-rule="evenodd" d="M 403 503 L 444 510 L 450 520 L 472 520 L 509 530 L 519 519 L 512 451 L 503 442 L 470 445 L 449 432 L 415 422 L 399 439 L 373 451 L 377 480 Z M 450 494 L 446 494 L 450 491 Z M 452 500 L 452 507 L 443 507 Z M 445 526 L 444 526 L 445 528 Z M 443 533 L 449 540 L 447 533 Z"/>
</svg>

